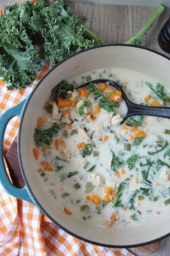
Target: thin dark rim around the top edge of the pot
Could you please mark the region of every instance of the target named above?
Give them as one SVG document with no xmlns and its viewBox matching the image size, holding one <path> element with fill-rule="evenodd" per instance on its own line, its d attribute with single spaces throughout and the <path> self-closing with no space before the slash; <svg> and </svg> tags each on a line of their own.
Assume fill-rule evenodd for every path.
<svg viewBox="0 0 170 256">
<path fill-rule="evenodd" d="M 149 52 L 153 52 L 153 53 L 156 53 L 157 55 L 160 55 L 162 57 L 164 57 L 165 59 L 169 60 L 170 61 L 170 58 L 167 57 L 166 55 L 162 54 L 162 53 L 159 53 L 155 50 L 152 50 L 152 49 L 148 49 L 147 47 L 143 47 L 143 46 L 138 46 L 138 45 L 130 45 L 130 44 L 104 44 L 104 45 L 98 45 L 98 46 L 94 46 L 94 47 L 90 47 L 88 49 L 84 49 L 84 50 L 81 50 L 77 53 L 74 53 L 72 55 L 70 55 L 69 57 L 66 57 L 65 59 L 61 60 L 60 62 L 58 62 L 54 67 L 52 67 L 50 70 L 48 70 L 48 72 L 40 79 L 40 81 L 37 83 L 35 89 L 33 89 L 33 91 L 30 93 L 30 95 L 28 96 L 28 99 L 27 101 L 25 102 L 25 105 L 23 107 L 23 110 L 22 110 L 22 115 L 20 117 L 20 126 L 19 126 L 19 133 L 18 133 L 18 157 L 19 157 L 19 164 L 20 164 L 20 169 L 21 169 L 21 173 L 22 173 L 22 177 L 25 181 L 25 183 L 27 184 L 27 187 L 29 189 L 29 193 L 31 194 L 33 200 L 36 202 L 36 205 L 39 207 L 39 209 L 59 228 L 61 228 L 62 230 L 64 230 L 66 233 L 68 233 L 69 235 L 71 236 L 74 236 L 84 242 L 87 242 L 87 243 L 90 243 L 90 244 L 96 244 L 98 246 L 102 246 L 102 247 L 110 247 L 110 248 L 131 248 L 131 247 L 139 247 L 139 246 L 145 246 L 145 245 L 148 245 L 148 244 L 152 244 L 152 243 L 156 243 L 168 236 L 170 236 L 170 232 L 162 237 L 159 237 L 159 238 L 156 238 L 154 240 L 151 240 L 151 241 L 148 241 L 148 242 L 145 242 L 145 243 L 139 243 L 139 244 L 131 244 L 131 245 L 112 245 L 112 244 L 102 244 L 102 243 L 98 243 L 98 242 L 94 242 L 94 241 L 90 241 L 86 238 L 82 238 L 81 236 L 78 236 L 74 233 L 72 233 L 72 231 L 64 228 L 62 225 L 60 225 L 60 223 L 58 223 L 57 221 L 55 221 L 52 217 L 50 217 L 50 215 L 46 212 L 46 210 L 44 210 L 44 208 L 39 204 L 39 202 L 37 201 L 35 195 L 33 194 L 30 186 L 29 186 L 29 183 L 27 181 L 27 178 L 25 177 L 25 174 L 24 174 L 24 170 L 23 170 L 23 165 L 22 165 L 22 161 L 21 161 L 21 148 L 20 148 L 20 140 L 21 140 L 21 129 L 22 129 L 22 122 L 23 122 L 23 117 L 24 117 L 24 113 L 27 109 L 27 106 L 29 104 L 29 101 L 33 95 L 33 93 L 35 93 L 35 91 L 38 89 L 38 86 L 41 84 L 41 82 L 50 74 L 50 72 L 52 72 L 55 68 L 57 68 L 58 66 L 60 66 L 62 63 L 64 63 L 65 61 L 69 60 L 70 58 L 74 57 L 75 55 L 78 55 L 82 52 L 86 52 L 86 51 L 91 51 L 91 50 L 94 50 L 94 49 L 97 49 L 97 48 L 102 48 L 102 47 L 112 47 L 112 46 L 125 46 L 125 47 L 134 47 L 134 48 L 139 48 L 139 49 L 142 49 L 142 50 L 146 50 L 146 51 L 149 51 Z"/>
</svg>

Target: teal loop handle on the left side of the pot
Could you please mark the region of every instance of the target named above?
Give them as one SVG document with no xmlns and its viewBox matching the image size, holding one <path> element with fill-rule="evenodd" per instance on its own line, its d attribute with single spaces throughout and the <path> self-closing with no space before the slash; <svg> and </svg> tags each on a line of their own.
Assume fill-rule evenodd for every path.
<svg viewBox="0 0 170 256">
<path fill-rule="evenodd" d="M 29 188 L 25 182 L 25 187 L 24 188 L 17 188 L 15 187 L 10 179 L 8 178 L 6 169 L 5 169 L 5 163 L 4 163 L 4 158 L 3 158 L 3 140 L 4 140 L 4 133 L 5 129 L 7 126 L 7 123 L 10 121 L 11 118 L 14 116 L 21 116 L 22 114 L 22 109 L 25 105 L 27 99 L 24 99 L 22 102 L 20 102 L 18 105 L 16 105 L 13 108 L 10 108 L 6 110 L 0 117 L 0 182 L 4 190 L 14 196 L 18 197 L 20 199 L 23 199 L 25 201 L 30 202 L 31 204 L 34 204 L 37 206 L 35 201 L 33 200 Z"/>
</svg>

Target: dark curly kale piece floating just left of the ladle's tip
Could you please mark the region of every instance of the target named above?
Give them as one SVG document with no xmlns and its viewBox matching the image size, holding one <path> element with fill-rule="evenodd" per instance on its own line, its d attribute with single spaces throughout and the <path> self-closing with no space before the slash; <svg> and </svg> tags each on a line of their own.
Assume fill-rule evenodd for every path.
<svg viewBox="0 0 170 256">
<path fill-rule="evenodd" d="M 64 94 L 68 91 L 71 91 L 74 89 L 74 86 L 72 84 L 69 84 L 66 80 L 63 80 L 60 85 L 56 86 L 52 90 L 53 94 L 53 100 L 56 102 L 57 97 L 64 97 Z"/>
</svg>

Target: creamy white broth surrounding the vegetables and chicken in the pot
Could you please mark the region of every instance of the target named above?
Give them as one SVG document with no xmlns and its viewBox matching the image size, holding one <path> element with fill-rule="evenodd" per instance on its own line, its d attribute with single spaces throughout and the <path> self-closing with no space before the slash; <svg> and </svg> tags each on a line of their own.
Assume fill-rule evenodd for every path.
<svg viewBox="0 0 170 256">
<path fill-rule="evenodd" d="M 86 83 L 86 77 L 91 76 L 92 80 L 101 78 L 109 78 L 121 86 L 123 86 L 124 91 L 126 92 L 128 98 L 135 103 L 143 103 L 146 104 L 144 98 L 147 97 L 148 94 L 151 94 L 148 87 L 145 85 L 145 82 L 149 82 L 153 86 L 156 86 L 156 81 L 154 78 L 148 77 L 145 74 L 137 73 L 136 71 L 129 69 L 120 69 L 120 68 L 105 68 L 92 70 L 90 73 L 82 74 L 79 77 L 75 77 L 69 83 L 73 83 L 75 87 Z M 110 86 L 109 86 L 110 87 Z M 99 90 L 99 88 L 98 88 Z M 167 90 L 165 90 L 168 93 Z M 101 94 L 107 92 L 107 89 Z M 88 93 L 90 95 L 90 93 Z M 158 103 L 161 103 L 160 100 L 154 95 L 151 94 L 152 100 L 155 100 Z M 91 101 L 93 101 L 93 97 L 89 96 Z M 81 96 L 77 100 L 81 100 Z M 96 102 L 99 101 L 101 97 L 99 97 L 92 106 L 91 112 L 94 113 L 96 106 L 98 105 Z M 52 99 L 49 99 L 52 100 Z M 120 114 L 122 117 L 126 114 L 126 107 L 123 101 L 118 102 L 120 107 L 114 108 L 115 115 Z M 66 108 L 65 108 L 66 109 Z M 132 146 L 131 151 L 127 151 L 124 148 L 125 143 L 132 144 L 130 141 L 130 135 L 134 138 L 134 132 L 131 132 L 131 126 L 127 126 L 128 130 L 123 130 L 124 124 L 120 125 L 106 125 L 104 123 L 99 122 L 100 113 L 96 115 L 96 119 L 94 122 L 89 121 L 89 117 L 80 116 L 78 113 L 78 109 L 67 107 L 71 111 L 72 117 L 71 120 L 77 119 L 72 123 L 72 129 L 70 130 L 67 126 L 64 129 L 58 132 L 58 134 L 54 135 L 53 142 L 56 139 L 62 139 L 65 142 L 65 147 L 59 145 L 58 150 L 56 149 L 54 143 L 53 146 L 50 146 L 49 149 L 46 149 L 46 153 L 41 151 L 42 147 L 35 145 L 35 148 L 39 151 L 39 158 L 37 159 L 37 170 L 43 170 L 43 165 L 41 164 L 43 161 L 47 161 L 50 166 L 53 168 L 53 172 L 44 171 L 40 172 L 40 177 L 46 187 L 47 191 L 52 195 L 52 203 L 56 203 L 60 205 L 63 209 L 66 207 L 72 214 L 70 218 L 74 217 L 83 222 L 87 222 L 89 225 L 94 225 L 102 228 L 109 228 L 111 230 L 115 228 L 128 228 L 131 226 L 141 225 L 143 222 L 147 222 L 152 218 L 155 218 L 157 214 L 161 214 L 163 211 L 169 209 L 169 205 L 165 205 L 164 201 L 170 198 L 168 195 L 168 188 L 170 187 L 170 181 L 164 180 L 160 178 L 162 170 L 166 166 L 160 166 L 160 169 L 157 170 L 157 160 L 160 159 L 163 162 L 169 165 L 168 156 L 163 158 L 163 154 L 170 149 L 169 146 L 159 153 L 155 155 L 149 155 L 147 152 L 154 152 L 155 150 L 159 150 L 165 145 L 165 141 L 169 142 L 169 134 L 165 134 L 165 130 L 169 129 L 169 120 L 163 118 L 155 118 L 145 116 L 141 123 L 141 126 L 138 126 L 137 129 L 140 132 L 144 132 L 146 134 L 146 138 L 143 138 L 143 141 L 139 146 Z M 40 130 L 48 129 L 54 125 L 54 122 L 60 124 L 71 123 L 70 118 L 66 115 L 62 117 L 61 120 L 52 119 L 51 114 L 49 114 L 45 109 L 43 110 L 41 117 L 43 117 L 46 121 L 41 126 L 37 126 Z M 49 122 L 50 121 L 50 122 Z M 74 129 L 77 129 L 77 126 L 81 125 L 82 128 L 86 127 L 87 134 L 89 136 L 92 135 L 92 140 L 87 141 L 86 139 L 82 139 L 79 133 L 74 135 L 70 135 L 70 132 Z M 96 136 L 95 131 L 102 127 L 102 130 L 99 131 L 99 134 Z M 108 129 L 109 126 L 109 129 Z M 63 131 L 66 130 L 68 133 L 68 137 L 63 137 Z M 100 129 L 99 129 L 100 130 Z M 113 131 L 113 133 L 111 133 Z M 104 136 L 108 136 L 108 139 L 104 142 Z M 116 141 L 115 135 L 119 139 L 118 143 Z M 162 142 L 159 142 L 159 147 L 156 146 L 157 136 L 162 137 Z M 95 138 L 96 137 L 96 138 Z M 139 136 L 137 136 L 139 137 Z M 89 156 L 81 157 L 80 159 L 80 150 L 78 150 L 77 145 L 81 142 L 84 142 L 86 145 L 90 144 L 91 141 L 95 141 L 96 147 L 92 147 L 93 151 L 99 151 L 99 156 L 93 156 L 93 153 Z M 145 146 L 145 147 L 143 147 Z M 61 159 L 56 159 L 56 156 L 63 158 L 61 153 L 65 148 L 69 148 L 72 153 L 72 158 L 68 162 L 64 162 Z M 118 161 L 123 161 L 120 167 L 116 168 L 116 171 L 120 174 L 120 178 L 115 175 L 116 173 L 111 170 L 111 160 L 112 160 L 112 151 L 115 154 L 115 157 L 118 157 Z M 139 155 L 137 161 L 134 164 L 132 170 L 129 170 L 127 166 L 127 159 L 132 155 Z M 155 161 L 155 164 L 152 164 L 149 169 L 149 175 L 147 177 L 148 181 L 143 181 L 141 171 L 146 171 L 149 168 L 147 166 L 140 166 L 140 164 L 146 164 L 147 159 L 150 158 L 150 162 Z M 84 161 L 84 163 L 82 163 Z M 89 162 L 89 165 L 86 169 L 83 169 L 84 164 Z M 57 164 L 56 164 L 57 163 Z M 61 170 L 56 170 L 56 165 L 63 166 Z M 95 165 L 94 170 L 91 172 L 87 172 L 92 166 Z M 122 174 L 122 169 L 124 174 Z M 78 171 L 77 174 L 72 177 L 67 177 L 70 172 Z M 43 173 L 43 176 L 42 176 Z M 100 176 L 103 185 L 96 186 L 92 185 L 92 190 L 89 193 L 85 193 L 84 189 L 86 189 L 85 184 L 89 182 L 89 174 L 94 174 Z M 45 174 L 45 175 L 44 175 Z M 138 184 L 137 184 L 138 178 Z M 127 185 L 125 186 L 120 198 L 118 201 L 121 201 L 123 205 L 120 207 L 113 207 L 114 199 L 107 203 L 105 207 L 103 207 L 103 198 L 106 196 L 104 193 L 106 186 L 105 181 L 114 180 L 117 182 L 117 186 L 113 190 L 117 190 L 118 185 L 121 182 L 125 182 Z M 145 182 L 145 183 L 142 183 Z M 78 185 L 76 185 L 78 184 Z M 146 185 L 147 184 L 147 185 Z M 78 188 L 76 188 L 75 186 Z M 80 186 L 80 188 L 79 188 Z M 152 193 L 147 195 L 142 195 L 144 189 L 152 189 Z M 139 190 L 137 195 L 134 197 L 134 209 L 130 210 L 130 206 L 132 203 L 128 202 L 132 197 L 132 194 L 135 190 Z M 64 197 L 64 194 L 68 193 L 69 196 Z M 86 196 L 91 197 L 92 195 L 97 195 L 100 198 L 100 204 L 96 205 L 91 200 L 86 199 Z M 111 197 L 111 195 L 109 195 Z M 145 199 L 139 200 L 138 196 L 144 196 Z M 154 199 L 155 198 L 155 199 Z M 154 201 L 153 201 L 154 199 Z M 157 199 L 157 201 L 155 201 Z M 81 206 L 88 205 L 89 210 L 81 211 Z M 97 207 L 96 207 L 97 206 Z M 101 209 L 100 209 L 100 208 Z M 101 210 L 101 211 L 100 211 Z M 64 211 L 63 211 L 64 212 Z M 63 214 L 66 214 L 65 212 Z M 134 215 L 135 214 L 135 215 Z M 116 216 L 117 221 L 114 221 L 111 218 L 112 215 Z M 133 219 L 132 219 L 133 216 Z M 109 222 L 108 222 L 109 221 Z M 108 226 L 109 223 L 113 221 L 112 226 Z"/>
</svg>

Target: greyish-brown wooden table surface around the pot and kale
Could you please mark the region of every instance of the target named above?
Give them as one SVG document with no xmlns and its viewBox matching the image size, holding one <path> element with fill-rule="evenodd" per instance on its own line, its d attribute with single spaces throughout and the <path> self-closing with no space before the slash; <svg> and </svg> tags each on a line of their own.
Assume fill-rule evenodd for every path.
<svg viewBox="0 0 170 256">
<path fill-rule="evenodd" d="M 5 7 L 6 5 L 11 5 L 15 2 L 16 1 L 13 0 L 0 0 L 0 6 Z M 83 24 L 88 25 L 88 29 L 93 31 L 101 39 L 101 41 L 107 42 L 109 44 L 124 43 L 128 41 L 146 24 L 146 22 L 157 9 L 157 7 L 148 6 L 105 4 L 70 4 L 70 6 L 73 7 L 75 15 L 85 15 L 86 20 L 83 21 Z M 145 42 L 143 46 L 163 53 L 168 57 L 170 57 L 170 54 L 165 53 L 162 49 L 160 49 L 157 42 L 157 37 L 160 29 L 167 21 L 169 14 L 170 9 L 165 9 L 160 17 L 155 21 L 154 25 L 150 28 L 147 35 L 142 37 L 142 41 Z M 7 153 L 7 158 L 10 157 L 11 155 L 9 151 Z M 16 160 L 17 159 L 14 161 Z M 13 160 L 11 159 L 11 161 Z M 22 177 L 16 177 L 18 170 L 13 169 L 12 171 L 13 180 L 17 181 L 18 178 L 22 180 Z M 170 237 L 163 239 L 158 249 L 152 254 L 152 256 L 170 255 L 169 245 Z M 130 251 L 137 256 L 146 255 L 145 253 L 135 249 L 130 249 Z"/>
</svg>

